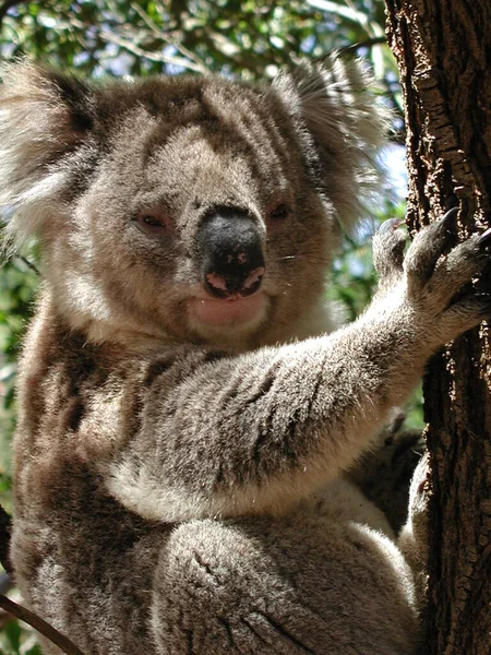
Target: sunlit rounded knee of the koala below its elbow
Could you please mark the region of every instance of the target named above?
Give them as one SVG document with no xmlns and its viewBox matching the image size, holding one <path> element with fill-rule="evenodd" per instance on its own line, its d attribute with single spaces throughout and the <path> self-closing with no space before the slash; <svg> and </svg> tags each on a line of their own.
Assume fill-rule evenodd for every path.
<svg viewBox="0 0 491 655">
<path fill-rule="evenodd" d="M 157 653 L 297 655 L 312 653 L 272 606 L 286 585 L 272 561 L 233 526 L 196 521 L 176 528 L 161 553 L 153 595 Z"/>
</svg>

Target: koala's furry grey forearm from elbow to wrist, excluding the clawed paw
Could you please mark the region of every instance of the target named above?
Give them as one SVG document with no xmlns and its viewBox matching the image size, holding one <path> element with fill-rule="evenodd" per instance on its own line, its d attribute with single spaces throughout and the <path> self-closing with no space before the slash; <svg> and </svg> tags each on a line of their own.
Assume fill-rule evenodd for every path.
<svg viewBox="0 0 491 655">
<path fill-rule="evenodd" d="M 339 334 L 213 364 L 190 353 L 194 370 L 173 386 L 170 364 L 146 394 L 161 416 L 143 418 L 111 465 L 111 491 L 166 521 L 261 512 L 283 503 L 286 489 L 309 493 L 351 463 L 421 374 L 409 340 L 384 324 L 375 340 L 370 332 L 360 321 Z M 182 356 L 173 364 L 182 366 Z M 142 460 L 143 442 L 152 456 Z"/>
</svg>

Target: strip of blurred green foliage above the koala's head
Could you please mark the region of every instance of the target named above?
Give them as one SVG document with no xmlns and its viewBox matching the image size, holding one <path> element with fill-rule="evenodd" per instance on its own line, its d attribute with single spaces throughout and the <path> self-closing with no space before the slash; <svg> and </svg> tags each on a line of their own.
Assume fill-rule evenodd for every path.
<svg viewBox="0 0 491 655">
<path fill-rule="evenodd" d="M 11 1 L 4 56 L 28 53 L 86 74 L 219 71 L 272 76 L 299 57 L 367 44 L 380 76 L 395 66 L 383 39 L 381 0 Z"/>
</svg>

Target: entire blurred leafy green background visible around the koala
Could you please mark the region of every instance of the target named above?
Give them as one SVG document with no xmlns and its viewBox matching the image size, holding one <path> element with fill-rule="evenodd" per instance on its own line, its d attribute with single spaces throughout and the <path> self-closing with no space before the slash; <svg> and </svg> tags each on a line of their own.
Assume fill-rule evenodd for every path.
<svg viewBox="0 0 491 655">
<path fill-rule="evenodd" d="M 394 132 L 381 153 L 387 188 L 358 233 L 346 236 L 326 291 L 351 320 L 375 284 L 371 234 L 381 221 L 405 214 L 402 98 L 384 21 L 383 0 L 3 0 L 0 58 L 26 55 L 88 78 L 216 72 L 250 82 L 267 81 L 285 67 L 331 50 L 367 59 L 393 109 Z M 35 251 L 0 269 L 0 502 L 9 513 L 15 361 L 39 284 Z M 408 408 L 411 427 L 421 425 L 420 405 L 416 394 Z M 0 569 L 0 592 L 7 590 L 15 599 Z M 0 655 L 20 654 L 40 654 L 36 635 L 0 614 Z"/>
</svg>

